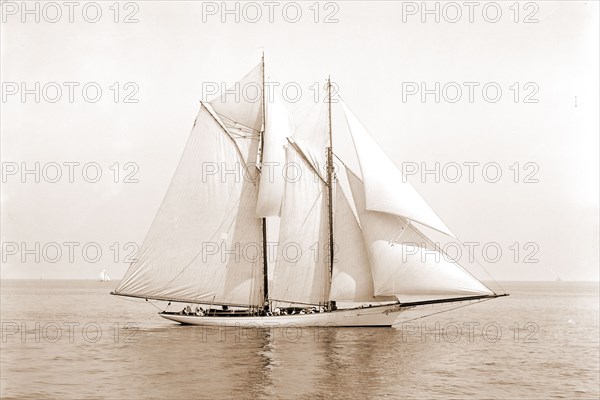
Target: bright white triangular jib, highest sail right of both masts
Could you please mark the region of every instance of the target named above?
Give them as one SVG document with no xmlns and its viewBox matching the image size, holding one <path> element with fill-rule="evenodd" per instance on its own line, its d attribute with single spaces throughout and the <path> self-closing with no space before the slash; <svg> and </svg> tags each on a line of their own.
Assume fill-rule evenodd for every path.
<svg viewBox="0 0 600 400">
<path fill-rule="evenodd" d="M 404 179 L 402 172 L 377 145 L 352 111 L 343 102 L 342 106 L 367 192 L 367 210 L 398 215 L 454 236 L 435 211 Z"/>
</svg>

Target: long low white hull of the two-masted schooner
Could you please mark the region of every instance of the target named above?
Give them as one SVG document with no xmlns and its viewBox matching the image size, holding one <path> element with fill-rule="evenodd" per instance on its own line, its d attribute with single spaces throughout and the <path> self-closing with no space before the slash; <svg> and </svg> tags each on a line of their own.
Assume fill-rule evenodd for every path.
<svg viewBox="0 0 600 400">
<path fill-rule="evenodd" d="M 400 304 L 340 309 L 313 314 L 272 316 L 198 316 L 160 312 L 159 315 L 184 325 L 218 327 L 390 327 L 402 311 Z"/>
</svg>

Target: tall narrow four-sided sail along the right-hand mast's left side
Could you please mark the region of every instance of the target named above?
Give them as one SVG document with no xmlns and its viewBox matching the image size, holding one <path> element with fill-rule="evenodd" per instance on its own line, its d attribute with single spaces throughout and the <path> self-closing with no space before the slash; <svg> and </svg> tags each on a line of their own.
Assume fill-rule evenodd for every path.
<svg viewBox="0 0 600 400">
<path fill-rule="evenodd" d="M 277 263 L 270 297 L 288 303 L 327 301 L 327 193 L 301 154 L 288 146 Z"/>
</svg>

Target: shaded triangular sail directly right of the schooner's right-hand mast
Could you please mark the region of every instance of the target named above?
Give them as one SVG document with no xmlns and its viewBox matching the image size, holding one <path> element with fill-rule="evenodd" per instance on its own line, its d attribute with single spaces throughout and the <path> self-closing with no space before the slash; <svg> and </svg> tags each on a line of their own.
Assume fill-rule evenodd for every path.
<svg viewBox="0 0 600 400">
<path fill-rule="evenodd" d="M 363 235 L 339 185 L 335 188 L 334 263 L 329 300 L 366 302 L 376 299 Z"/>
</svg>

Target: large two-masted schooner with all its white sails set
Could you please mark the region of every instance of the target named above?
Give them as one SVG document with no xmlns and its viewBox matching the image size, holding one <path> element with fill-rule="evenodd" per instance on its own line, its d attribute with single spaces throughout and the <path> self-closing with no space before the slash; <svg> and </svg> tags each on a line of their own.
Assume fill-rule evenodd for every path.
<svg viewBox="0 0 600 400">
<path fill-rule="evenodd" d="M 360 170 L 333 151 L 331 86 L 326 110 L 294 124 L 266 99 L 263 56 L 200 102 L 137 261 L 111 294 L 187 304 L 159 313 L 181 324 L 252 327 L 389 327 L 426 306 L 505 295 L 447 257 L 424 257 L 441 250 L 423 227 L 452 232 L 343 102 Z M 254 99 L 227 96 L 249 87 Z"/>
</svg>

